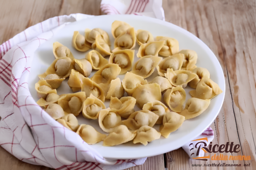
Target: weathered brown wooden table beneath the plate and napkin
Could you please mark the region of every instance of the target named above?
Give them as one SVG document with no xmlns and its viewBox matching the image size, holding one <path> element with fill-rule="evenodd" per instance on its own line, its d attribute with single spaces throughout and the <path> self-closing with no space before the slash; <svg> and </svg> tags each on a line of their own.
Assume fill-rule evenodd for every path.
<svg viewBox="0 0 256 170">
<path fill-rule="evenodd" d="M 244 163 L 256 168 L 256 1 L 253 0 L 163 0 L 166 21 L 199 37 L 217 56 L 222 66 L 226 93 L 223 107 L 211 128 L 213 144 L 241 145 L 235 155 L 250 161 L 208 161 Z M 0 44 L 17 33 L 53 16 L 84 13 L 100 15 L 100 0 L 0 0 Z M 219 153 L 216 153 L 219 154 Z M 208 155 L 208 154 L 206 154 Z M 210 154 L 213 156 L 214 153 Z M 231 154 L 230 154 L 231 155 Z M 193 167 L 204 161 L 192 160 L 183 149 L 147 158 L 129 170 L 210 169 Z M 212 167 L 249 170 L 253 167 Z M 1 170 L 50 169 L 19 161 L 0 147 Z"/>
</svg>

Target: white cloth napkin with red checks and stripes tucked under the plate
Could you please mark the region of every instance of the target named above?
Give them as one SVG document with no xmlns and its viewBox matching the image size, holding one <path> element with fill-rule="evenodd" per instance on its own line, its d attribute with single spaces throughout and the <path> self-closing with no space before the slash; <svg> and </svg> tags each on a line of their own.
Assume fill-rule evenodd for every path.
<svg viewBox="0 0 256 170">
<path fill-rule="evenodd" d="M 102 0 L 102 5 L 103 2 L 115 4 L 114 1 Z M 139 2 L 147 2 L 144 5 L 145 10 L 135 9 L 135 12 L 145 12 L 147 15 L 150 13 L 149 5 L 155 5 L 156 8 L 157 2 L 160 4 L 161 1 Z M 120 9 L 119 13 L 126 13 L 124 11 L 127 11 L 129 6 L 135 7 L 132 5 L 135 3 L 134 0 L 130 0 L 129 3 L 131 5 L 125 2 L 126 7 L 122 6 L 123 9 Z M 119 9 L 118 6 L 115 8 Z M 154 8 L 151 7 L 154 16 L 161 16 L 154 12 Z M 106 10 L 104 12 L 110 14 Z M 127 12 L 130 13 L 132 12 Z M 71 14 L 47 19 L 0 45 L 0 146 L 21 161 L 59 170 L 121 170 L 141 165 L 147 159 L 104 159 L 78 134 L 53 120 L 36 104 L 28 91 L 27 82 L 36 49 L 66 24 L 89 17 L 93 16 Z M 163 13 L 159 19 L 164 19 Z"/>
</svg>

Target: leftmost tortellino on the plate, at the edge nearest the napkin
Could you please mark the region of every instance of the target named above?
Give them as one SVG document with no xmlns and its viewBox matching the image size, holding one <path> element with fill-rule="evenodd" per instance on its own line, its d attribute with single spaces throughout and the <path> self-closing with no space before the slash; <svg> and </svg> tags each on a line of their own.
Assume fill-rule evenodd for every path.
<svg viewBox="0 0 256 170">
<path fill-rule="evenodd" d="M 56 89 L 52 89 L 50 84 L 48 84 L 45 79 L 40 79 L 36 84 L 35 84 L 36 92 L 38 98 L 43 98 L 45 99 L 48 94 L 50 93 L 55 93 L 57 94 Z"/>
</svg>

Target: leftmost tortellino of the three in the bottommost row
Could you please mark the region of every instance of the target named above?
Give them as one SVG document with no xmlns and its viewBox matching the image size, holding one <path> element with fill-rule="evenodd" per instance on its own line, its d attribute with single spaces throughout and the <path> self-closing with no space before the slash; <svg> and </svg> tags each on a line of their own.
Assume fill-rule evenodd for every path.
<svg viewBox="0 0 256 170">
<path fill-rule="evenodd" d="M 81 124 L 76 133 L 88 144 L 95 144 L 104 140 L 106 137 L 105 134 L 98 132 L 95 128 L 86 124 Z"/>
</svg>

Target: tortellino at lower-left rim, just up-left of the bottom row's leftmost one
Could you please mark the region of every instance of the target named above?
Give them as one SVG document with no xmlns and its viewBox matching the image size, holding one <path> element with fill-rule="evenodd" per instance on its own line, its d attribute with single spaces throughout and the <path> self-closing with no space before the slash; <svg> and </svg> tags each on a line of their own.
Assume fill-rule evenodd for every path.
<svg viewBox="0 0 256 170">
<path fill-rule="evenodd" d="M 57 121 L 62 124 L 64 127 L 68 128 L 69 130 L 72 130 L 76 132 L 78 129 L 78 120 L 76 119 L 76 116 L 72 113 L 66 114 L 61 119 L 57 119 Z"/>
</svg>

